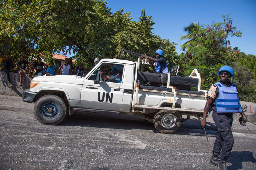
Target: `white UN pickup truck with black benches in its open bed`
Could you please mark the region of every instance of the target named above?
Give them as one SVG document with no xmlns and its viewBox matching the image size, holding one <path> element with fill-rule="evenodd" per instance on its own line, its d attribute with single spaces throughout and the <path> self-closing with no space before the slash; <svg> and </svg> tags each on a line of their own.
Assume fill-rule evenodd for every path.
<svg viewBox="0 0 256 170">
<path fill-rule="evenodd" d="M 140 61 L 102 59 L 85 77 L 35 77 L 22 99 L 35 103 L 35 117 L 47 125 L 59 124 L 74 112 L 104 112 L 139 115 L 159 132 L 171 134 L 190 116 L 203 116 L 207 91 L 200 89 L 196 69 L 189 77 L 150 73 L 139 71 Z"/>
</svg>

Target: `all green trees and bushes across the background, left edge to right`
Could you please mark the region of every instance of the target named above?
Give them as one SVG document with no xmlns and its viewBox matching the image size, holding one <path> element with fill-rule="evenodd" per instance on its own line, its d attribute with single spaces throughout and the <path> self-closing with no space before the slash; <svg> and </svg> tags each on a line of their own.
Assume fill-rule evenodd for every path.
<svg viewBox="0 0 256 170">
<path fill-rule="evenodd" d="M 184 27 L 188 40 L 178 55 L 174 42 L 153 33 L 155 23 L 142 10 L 139 21 L 132 21 L 123 9 L 111 13 L 102 0 L 0 0 L 0 50 L 17 60 L 20 54 L 30 59 L 39 55 L 47 61 L 52 53 L 67 55 L 88 68 L 94 58 L 119 58 L 122 48 L 154 57 L 163 49 L 169 66 L 179 65 L 179 75 L 188 76 L 197 68 L 202 89 L 218 81 L 222 65 L 234 68 L 240 100 L 256 102 L 256 57 L 232 49 L 229 37 L 241 37 L 229 15 L 223 22 L 209 25 L 191 23 Z M 125 53 L 123 59 L 137 60 Z M 153 71 L 147 66 L 144 70 Z M 169 68 L 170 69 L 170 68 Z"/>
</svg>

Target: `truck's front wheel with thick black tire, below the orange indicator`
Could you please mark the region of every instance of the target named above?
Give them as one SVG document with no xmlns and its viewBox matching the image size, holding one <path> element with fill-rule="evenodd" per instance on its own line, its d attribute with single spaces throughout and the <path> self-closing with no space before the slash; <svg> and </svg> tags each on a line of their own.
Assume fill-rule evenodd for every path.
<svg viewBox="0 0 256 170">
<path fill-rule="evenodd" d="M 45 125 L 61 123 L 67 114 L 67 107 L 63 99 L 55 95 L 40 97 L 34 105 L 36 119 Z"/>
</svg>

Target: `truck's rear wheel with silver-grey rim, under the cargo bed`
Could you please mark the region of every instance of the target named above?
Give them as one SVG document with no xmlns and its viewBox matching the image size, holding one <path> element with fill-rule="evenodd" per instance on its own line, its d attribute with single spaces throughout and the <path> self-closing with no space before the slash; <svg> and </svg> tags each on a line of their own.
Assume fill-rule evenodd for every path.
<svg viewBox="0 0 256 170">
<path fill-rule="evenodd" d="M 175 113 L 170 113 L 168 110 L 161 110 L 155 115 L 153 119 L 155 128 L 160 133 L 166 134 L 172 134 L 178 130 L 180 127 L 180 122 L 181 119 L 178 111 Z"/>
</svg>

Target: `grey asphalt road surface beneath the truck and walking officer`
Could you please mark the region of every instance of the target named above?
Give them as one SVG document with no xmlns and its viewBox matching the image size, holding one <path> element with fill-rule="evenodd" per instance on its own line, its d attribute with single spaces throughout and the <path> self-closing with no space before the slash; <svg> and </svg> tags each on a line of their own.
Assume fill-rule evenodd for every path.
<svg viewBox="0 0 256 170">
<path fill-rule="evenodd" d="M 0 169 L 216 169 L 209 165 L 216 127 L 207 118 L 209 142 L 200 121 L 183 122 L 162 134 L 136 116 L 88 113 L 56 126 L 42 125 L 33 104 L 0 95 Z M 255 128 L 233 124 L 229 170 L 256 169 Z M 255 126 L 256 127 L 256 126 Z M 241 133 L 242 131 L 243 133 Z"/>
</svg>

